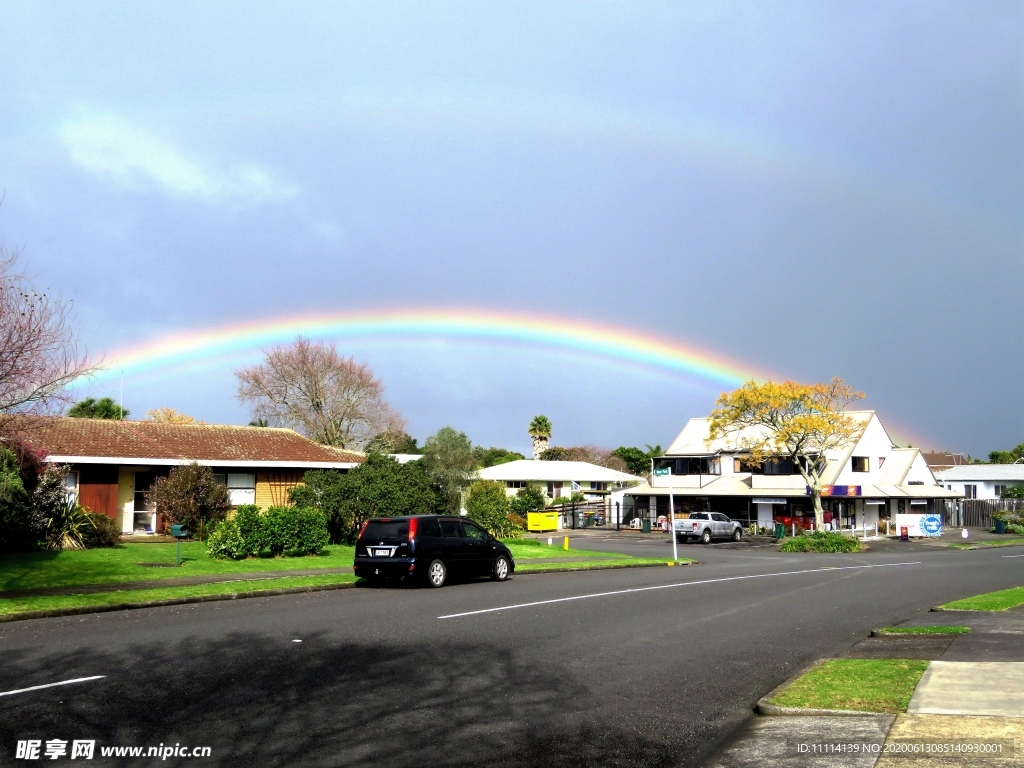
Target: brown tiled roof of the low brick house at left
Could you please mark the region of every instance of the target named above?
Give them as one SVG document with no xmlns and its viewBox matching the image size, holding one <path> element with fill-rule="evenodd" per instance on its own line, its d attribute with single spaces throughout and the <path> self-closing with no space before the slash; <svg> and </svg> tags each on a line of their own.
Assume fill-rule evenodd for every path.
<svg viewBox="0 0 1024 768">
<path fill-rule="evenodd" d="M 62 457 L 116 457 L 199 462 L 345 463 L 364 457 L 313 442 L 291 429 L 147 421 L 26 418 L 27 441 Z"/>
</svg>

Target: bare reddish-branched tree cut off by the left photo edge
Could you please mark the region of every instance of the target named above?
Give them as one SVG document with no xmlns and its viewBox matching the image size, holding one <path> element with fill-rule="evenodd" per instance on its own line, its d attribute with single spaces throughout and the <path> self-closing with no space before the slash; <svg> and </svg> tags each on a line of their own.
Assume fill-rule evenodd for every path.
<svg viewBox="0 0 1024 768">
<path fill-rule="evenodd" d="M 70 301 L 38 291 L 0 247 L 0 433 L 18 415 L 51 413 L 71 401 L 65 389 L 94 370 L 79 348 Z"/>
</svg>

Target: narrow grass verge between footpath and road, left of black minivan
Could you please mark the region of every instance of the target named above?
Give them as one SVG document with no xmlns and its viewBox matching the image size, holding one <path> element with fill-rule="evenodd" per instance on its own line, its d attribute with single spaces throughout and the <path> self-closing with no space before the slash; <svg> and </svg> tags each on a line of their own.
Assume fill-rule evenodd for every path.
<svg viewBox="0 0 1024 768">
<path fill-rule="evenodd" d="M 140 545 L 151 546 L 151 545 Z M 157 546 L 157 545 L 152 545 Z M 53 608 L 80 608 L 91 605 L 116 605 L 119 603 L 146 602 L 150 600 L 170 600 L 201 595 L 225 595 L 254 592 L 257 590 L 286 589 L 290 587 L 315 587 L 326 584 L 354 582 L 351 573 L 327 573 L 319 577 L 286 577 L 282 579 L 256 579 L 246 582 L 221 582 L 201 584 L 194 587 L 166 587 L 152 590 L 121 590 L 119 592 L 97 592 L 92 595 L 46 595 L 43 597 L 16 597 L 0 600 L 0 615 L 23 613 L 31 610 L 52 610 Z"/>
</svg>

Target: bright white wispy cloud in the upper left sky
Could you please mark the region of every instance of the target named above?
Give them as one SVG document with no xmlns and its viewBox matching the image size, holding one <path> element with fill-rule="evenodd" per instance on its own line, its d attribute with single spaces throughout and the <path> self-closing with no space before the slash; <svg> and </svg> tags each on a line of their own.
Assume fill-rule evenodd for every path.
<svg viewBox="0 0 1024 768">
<path fill-rule="evenodd" d="M 251 203 L 295 193 L 294 187 L 276 182 L 256 165 L 211 167 L 120 118 L 66 123 L 60 138 L 77 166 L 129 189 L 155 185 L 206 202 Z"/>
</svg>

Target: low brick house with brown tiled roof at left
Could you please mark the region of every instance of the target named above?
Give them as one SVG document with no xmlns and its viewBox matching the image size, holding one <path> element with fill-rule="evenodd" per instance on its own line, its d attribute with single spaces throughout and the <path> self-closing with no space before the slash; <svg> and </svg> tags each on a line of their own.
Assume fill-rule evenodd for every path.
<svg viewBox="0 0 1024 768">
<path fill-rule="evenodd" d="M 24 433 L 46 462 L 70 467 L 69 493 L 124 534 L 161 530 L 146 492 L 172 467 L 208 466 L 232 506 L 270 507 L 287 504 L 288 492 L 310 469 L 348 471 L 364 461 L 361 454 L 269 427 L 37 417 L 25 422 Z"/>
</svg>

